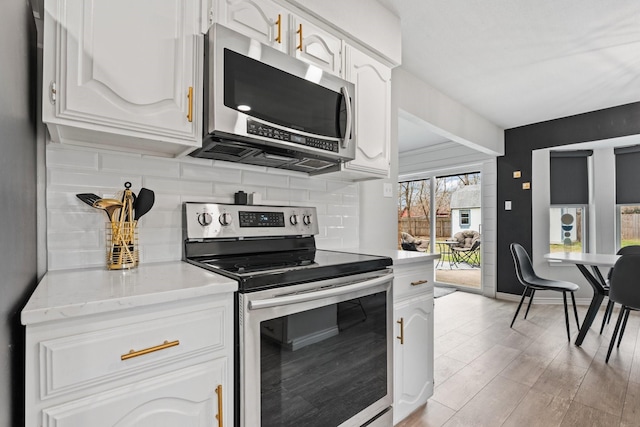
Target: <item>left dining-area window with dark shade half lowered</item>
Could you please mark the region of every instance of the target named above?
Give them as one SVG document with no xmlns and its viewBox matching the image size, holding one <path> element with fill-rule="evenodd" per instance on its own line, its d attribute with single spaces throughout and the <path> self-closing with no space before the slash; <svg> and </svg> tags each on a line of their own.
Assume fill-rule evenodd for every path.
<svg viewBox="0 0 640 427">
<path fill-rule="evenodd" d="M 589 157 L 593 151 L 551 151 L 549 252 L 588 252 Z"/>
</svg>

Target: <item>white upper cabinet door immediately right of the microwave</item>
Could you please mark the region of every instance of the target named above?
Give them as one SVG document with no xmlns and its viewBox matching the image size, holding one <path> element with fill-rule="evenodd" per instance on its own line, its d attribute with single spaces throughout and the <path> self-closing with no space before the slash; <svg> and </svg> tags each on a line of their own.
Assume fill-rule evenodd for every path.
<svg viewBox="0 0 640 427">
<path fill-rule="evenodd" d="M 389 175 L 391 69 L 363 52 L 345 47 L 346 77 L 356 85 L 356 158 L 346 169 Z"/>
</svg>

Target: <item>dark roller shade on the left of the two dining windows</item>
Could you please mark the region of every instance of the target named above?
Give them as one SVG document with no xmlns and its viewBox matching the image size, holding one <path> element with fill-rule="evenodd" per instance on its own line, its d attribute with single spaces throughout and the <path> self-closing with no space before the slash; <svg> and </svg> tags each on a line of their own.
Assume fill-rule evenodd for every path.
<svg viewBox="0 0 640 427">
<path fill-rule="evenodd" d="M 552 205 L 589 203 L 589 166 L 592 150 L 551 151 L 550 193 Z"/>
</svg>

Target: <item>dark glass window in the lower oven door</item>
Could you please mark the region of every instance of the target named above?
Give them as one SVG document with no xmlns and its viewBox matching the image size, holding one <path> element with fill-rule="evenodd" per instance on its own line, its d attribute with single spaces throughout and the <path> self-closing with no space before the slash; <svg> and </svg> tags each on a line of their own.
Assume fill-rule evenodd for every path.
<svg viewBox="0 0 640 427">
<path fill-rule="evenodd" d="M 387 394 L 386 293 L 261 323 L 263 426 L 336 426 Z"/>
</svg>

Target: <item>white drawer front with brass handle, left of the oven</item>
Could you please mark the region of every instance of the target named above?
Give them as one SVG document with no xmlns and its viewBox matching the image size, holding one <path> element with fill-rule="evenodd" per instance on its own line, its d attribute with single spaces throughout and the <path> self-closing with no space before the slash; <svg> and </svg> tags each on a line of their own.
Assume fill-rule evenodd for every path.
<svg viewBox="0 0 640 427">
<path fill-rule="evenodd" d="M 226 327 L 231 325 L 225 325 L 225 308 L 217 307 L 42 341 L 40 396 L 126 378 L 222 349 Z"/>
</svg>

